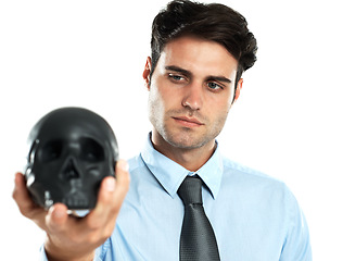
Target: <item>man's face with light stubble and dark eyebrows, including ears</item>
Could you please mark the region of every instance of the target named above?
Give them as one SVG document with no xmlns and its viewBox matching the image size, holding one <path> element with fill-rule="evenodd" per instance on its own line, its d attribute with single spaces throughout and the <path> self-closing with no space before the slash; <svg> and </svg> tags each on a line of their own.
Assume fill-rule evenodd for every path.
<svg viewBox="0 0 343 261">
<path fill-rule="evenodd" d="M 192 37 L 165 46 L 151 79 L 148 59 L 143 76 L 153 139 L 183 149 L 214 142 L 232 104 L 237 67 L 223 46 Z"/>
</svg>

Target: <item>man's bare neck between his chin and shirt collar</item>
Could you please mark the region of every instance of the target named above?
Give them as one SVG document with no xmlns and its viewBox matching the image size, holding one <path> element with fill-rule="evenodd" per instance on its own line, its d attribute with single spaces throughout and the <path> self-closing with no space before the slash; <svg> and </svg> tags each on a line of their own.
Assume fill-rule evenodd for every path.
<svg viewBox="0 0 343 261">
<path fill-rule="evenodd" d="M 191 172 L 195 172 L 204 165 L 216 149 L 215 140 L 196 148 L 177 147 L 166 141 L 156 132 L 152 133 L 151 141 L 155 150 Z"/>
</svg>

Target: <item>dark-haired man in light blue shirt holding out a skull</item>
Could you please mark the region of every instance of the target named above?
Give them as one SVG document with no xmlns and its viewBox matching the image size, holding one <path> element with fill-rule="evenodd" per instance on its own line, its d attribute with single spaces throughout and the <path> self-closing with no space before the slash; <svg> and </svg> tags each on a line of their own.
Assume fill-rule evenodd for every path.
<svg viewBox="0 0 343 261">
<path fill-rule="evenodd" d="M 186 260 L 312 260 L 307 225 L 289 189 L 224 158 L 215 140 L 239 98 L 243 71 L 256 60 L 244 17 L 221 4 L 173 1 L 153 22 L 151 47 L 143 78 L 153 129 L 141 154 L 129 161 L 130 178 L 119 161 L 116 179 L 103 181 L 96 209 L 79 220 L 61 203 L 48 212 L 36 207 L 16 174 L 13 197 L 21 212 L 47 232 L 42 254 L 183 260 L 189 246 L 182 239 L 188 210 L 181 187 L 193 176 L 202 184 L 202 219 L 214 239 L 186 256 L 211 241 L 216 258 Z"/>
</svg>

